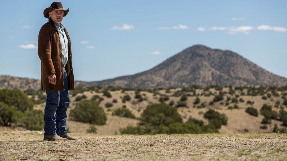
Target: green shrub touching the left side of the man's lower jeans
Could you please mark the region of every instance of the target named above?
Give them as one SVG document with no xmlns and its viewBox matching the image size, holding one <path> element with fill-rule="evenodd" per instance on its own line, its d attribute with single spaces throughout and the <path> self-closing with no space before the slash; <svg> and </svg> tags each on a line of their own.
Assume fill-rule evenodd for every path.
<svg viewBox="0 0 287 161">
<path fill-rule="evenodd" d="M 41 110 L 25 111 L 22 117 L 23 124 L 27 130 L 44 129 L 44 113 Z"/>
</svg>

